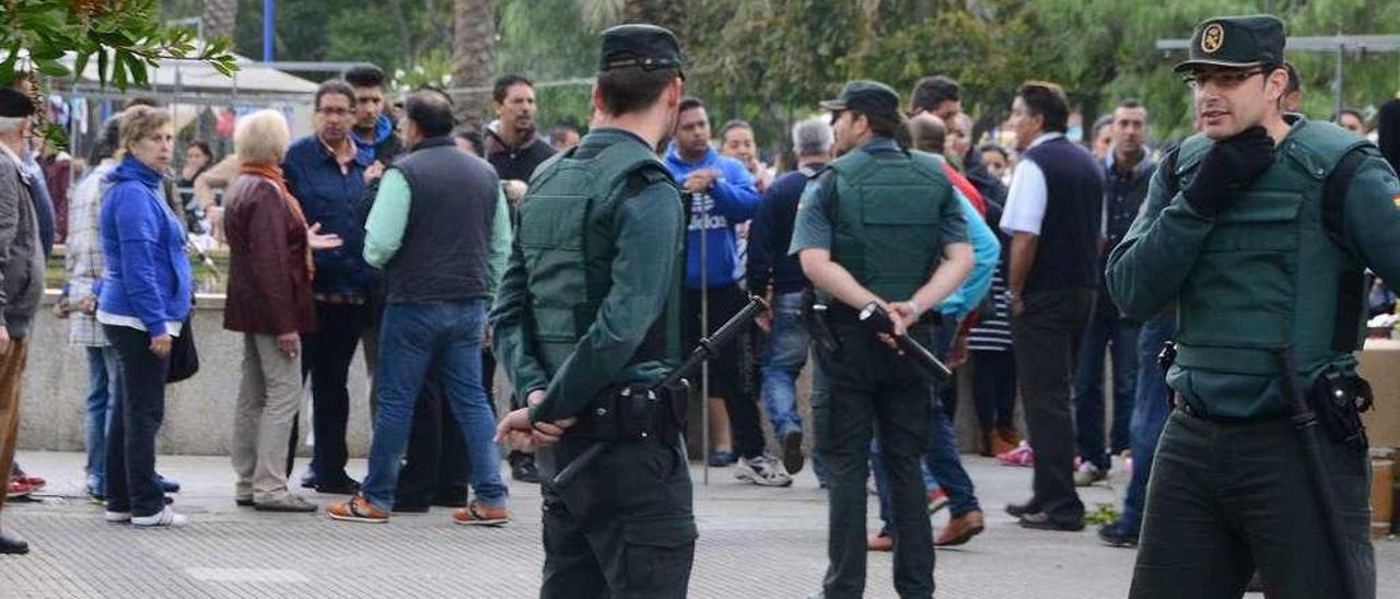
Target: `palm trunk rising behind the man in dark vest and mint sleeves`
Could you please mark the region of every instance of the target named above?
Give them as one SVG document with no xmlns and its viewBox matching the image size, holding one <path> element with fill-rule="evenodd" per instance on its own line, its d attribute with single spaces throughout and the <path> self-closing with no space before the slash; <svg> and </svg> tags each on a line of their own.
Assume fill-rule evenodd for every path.
<svg viewBox="0 0 1400 599">
<path fill-rule="evenodd" d="M 456 119 L 482 127 L 491 108 L 491 70 L 496 62 L 496 0 L 452 1 L 452 94 Z"/>
</svg>

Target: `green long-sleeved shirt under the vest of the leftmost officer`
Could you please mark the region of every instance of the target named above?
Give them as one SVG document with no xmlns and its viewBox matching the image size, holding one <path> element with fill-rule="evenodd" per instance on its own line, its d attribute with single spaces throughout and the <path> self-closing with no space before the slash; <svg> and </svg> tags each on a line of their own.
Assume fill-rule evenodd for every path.
<svg viewBox="0 0 1400 599">
<path fill-rule="evenodd" d="M 588 158 L 622 143 L 644 144 L 640 137 L 623 130 L 595 129 L 580 141 L 574 158 Z M 657 182 L 638 186 L 631 196 L 623 199 L 615 218 L 617 237 L 612 258 L 612 288 L 603 298 L 596 319 L 557 372 L 546 372 L 532 355 L 526 304 L 531 301 L 526 294 L 528 267 L 518 237 L 512 244 L 500 294 L 491 309 L 491 323 L 496 332 L 496 355 L 511 372 L 515 392 L 529 395 L 546 390 L 545 400 L 531 410 L 533 421 L 575 416 L 613 382 L 647 378 L 627 371 L 641 367 L 633 364 L 631 358 L 648 329 L 665 311 L 666 298 L 675 288 L 685 216 L 676 188 Z"/>
</svg>

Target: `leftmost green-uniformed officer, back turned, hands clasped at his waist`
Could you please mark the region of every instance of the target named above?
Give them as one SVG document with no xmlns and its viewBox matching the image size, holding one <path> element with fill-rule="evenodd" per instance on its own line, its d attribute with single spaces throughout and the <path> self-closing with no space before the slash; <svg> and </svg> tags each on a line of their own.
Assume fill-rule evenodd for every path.
<svg viewBox="0 0 1400 599">
<path fill-rule="evenodd" d="M 623 406 L 616 389 L 659 379 L 675 355 L 679 329 L 668 325 L 679 315 L 666 306 L 680 288 L 685 218 L 655 147 L 675 125 L 683 59 L 659 27 L 602 35 L 599 116 L 577 147 L 536 169 L 491 311 L 496 355 L 529 404 L 497 432 L 539 451 L 542 598 L 683 598 L 696 525 L 680 423 L 652 410 L 633 423 L 654 427 L 645 441 L 612 442 L 608 420 L 595 417 L 640 407 Z M 596 444 L 608 444 L 598 459 L 556 484 Z"/>
</svg>

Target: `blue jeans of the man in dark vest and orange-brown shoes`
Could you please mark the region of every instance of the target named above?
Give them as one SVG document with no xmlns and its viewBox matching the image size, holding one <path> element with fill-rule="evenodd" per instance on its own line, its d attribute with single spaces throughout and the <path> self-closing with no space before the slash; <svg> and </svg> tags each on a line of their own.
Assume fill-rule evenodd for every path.
<svg viewBox="0 0 1400 599">
<path fill-rule="evenodd" d="M 482 334 L 486 332 L 486 300 L 433 304 L 389 304 L 379 329 L 379 410 L 370 444 L 370 473 L 363 494 L 379 509 L 393 509 L 399 467 L 409 446 L 413 404 L 423 381 L 442 385 L 462 427 L 472 463 L 472 488 L 487 505 L 505 504 L 496 418 L 482 385 Z"/>
</svg>

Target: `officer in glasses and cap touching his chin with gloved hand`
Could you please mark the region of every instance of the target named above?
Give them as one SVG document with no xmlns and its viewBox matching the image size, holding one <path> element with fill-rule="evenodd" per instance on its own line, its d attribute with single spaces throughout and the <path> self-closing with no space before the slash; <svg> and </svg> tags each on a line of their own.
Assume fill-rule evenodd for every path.
<svg viewBox="0 0 1400 599">
<path fill-rule="evenodd" d="M 1238 598 L 1254 567 L 1270 596 L 1375 596 L 1355 350 L 1361 273 L 1400 280 L 1400 183 L 1368 141 L 1281 112 L 1282 62 L 1274 17 L 1196 28 L 1177 70 L 1201 133 L 1163 157 L 1109 259 L 1126 313 L 1177 319 L 1133 598 Z M 1322 484 L 1287 382 L 1323 423 Z"/>
</svg>

